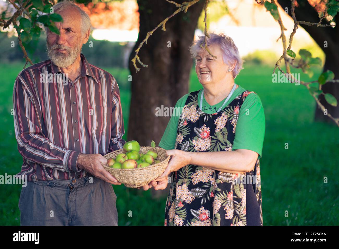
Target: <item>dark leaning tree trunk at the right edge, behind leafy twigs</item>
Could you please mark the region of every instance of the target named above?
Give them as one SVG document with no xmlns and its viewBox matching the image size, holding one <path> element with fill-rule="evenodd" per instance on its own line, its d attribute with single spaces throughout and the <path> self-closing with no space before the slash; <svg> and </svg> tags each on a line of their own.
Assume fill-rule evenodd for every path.
<svg viewBox="0 0 339 249">
<path fill-rule="evenodd" d="M 291 16 L 291 1 L 278 0 L 282 8 L 288 7 L 288 14 Z M 295 15 L 298 21 L 319 22 L 318 13 L 308 3 L 308 1 L 298 1 L 299 7 L 295 7 Z M 335 21 L 339 23 L 339 15 L 336 15 Z M 322 24 L 328 24 L 323 19 Z M 317 27 L 300 24 L 308 34 L 316 41 L 320 48 L 324 51 L 326 60 L 324 64 L 324 71 L 331 70 L 334 72 L 335 79 L 339 79 L 339 28 L 338 25 L 332 27 Z M 298 31 L 297 31 L 298 32 Z M 327 42 L 327 47 L 324 47 L 324 42 Z M 326 83 L 321 88 L 324 93 L 332 94 L 339 101 L 339 83 Z M 324 105 L 328 113 L 334 118 L 339 117 L 339 105 L 332 106 L 328 104 L 323 95 L 319 98 L 320 103 Z M 318 105 L 315 110 L 315 120 L 332 123 L 333 121 L 324 115 Z"/>
</svg>

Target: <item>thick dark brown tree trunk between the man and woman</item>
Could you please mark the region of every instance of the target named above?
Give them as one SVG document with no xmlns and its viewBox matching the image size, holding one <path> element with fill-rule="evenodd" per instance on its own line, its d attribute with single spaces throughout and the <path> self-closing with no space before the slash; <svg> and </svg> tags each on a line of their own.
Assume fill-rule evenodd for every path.
<svg viewBox="0 0 339 249">
<path fill-rule="evenodd" d="M 186 0 L 187 1 L 187 0 Z M 178 3 L 184 1 L 176 1 Z M 131 62 L 135 50 L 162 20 L 177 7 L 166 1 L 138 1 L 140 31 L 129 58 L 132 75 L 132 98 L 129 112 L 128 140 L 137 140 L 141 146 L 150 146 L 152 140 L 159 144 L 170 117 L 157 117 L 156 108 L 174 107 L 177 100 L 188 92 L 193 60 L 188 47 L 193 42 L 198 18 L 204 1 L 199 1 L 187 13 L 180 12 L 166 22 L 166 31 L 159 27 L 144 43 L 138 56 L 148 65 L 136 69 Z M 170 43 L 169 43 L 170 42 Z M 169 47 L 170 46 L 170 47 Z"/>
</svg>

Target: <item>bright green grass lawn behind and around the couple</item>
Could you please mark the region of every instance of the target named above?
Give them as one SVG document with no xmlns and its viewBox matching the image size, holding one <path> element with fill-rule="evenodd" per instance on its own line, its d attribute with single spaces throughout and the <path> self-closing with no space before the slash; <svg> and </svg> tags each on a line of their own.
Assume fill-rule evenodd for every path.
<svg viewBox="0 0 339 249">
<path fill-rule="evenodd" d="M 339 128 L 313 121 L 315 102 L 307 89 L 272 83 L 271 66 L 244 65 L 236 83 L 257 92 L 266 116 L 261 184 L 264 225 L 338 225 Z M 0 174 L 16 174 L 22 158 L 17 151 L 11 115 L 13 84 L 22 64 L 0 65 Z M 120 87 L 125 131 L 128 127 L 130 84 L 128 70 L 104 68 Z M 315 69 L 315 77 L 320 69 Z M 308 81 L 307 76 L 301 76 Z M 191 72 L 190 91 L 200 89 Z M 126 138 L 126 136 L 124 137 Z M 288 143 L 288 149 L 285 149 Z M 324 177 L 328 183 L 324 183 Z M 1 185 L 0 225 L 19 225 L 21 187 Z M 166 197 L 153 199 L 150 191 L 114 186 L 119 225 L 163 225 Z M 132 217 L 128 214 L 132 211 Z M 285 217 L 288 211 L 288 217 Z"/>
</svg>

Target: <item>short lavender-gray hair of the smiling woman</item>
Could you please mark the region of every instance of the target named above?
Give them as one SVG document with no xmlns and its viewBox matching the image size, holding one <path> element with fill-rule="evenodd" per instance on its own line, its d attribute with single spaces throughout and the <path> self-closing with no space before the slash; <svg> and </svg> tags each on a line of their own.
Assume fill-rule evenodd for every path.
<svg viewBox="0 0 339 249">
<path fill-rule="evenodd" d="M 232 76 L 235 79 L 237 75 L 239 74 L 240 70 L 243 69 L 242 63 L 243 60 L 240 57 L 238 47 L 234 44 L 234 41 L 231 37 L 228 37 L 224 34 L 209 34 L 210 38 L 206 38 L 207 46 L 210 46 L 211 44 L 218 44 L 221 51 L 222 51 L 222 59 L 225 64 L 228 66 L 231 66 L 235 63 L 235 67 L 232 71 Z M 200 47 L 200 44 L 204 46 L 205 42 L 205 36 L 198 36 L 199 39 L 195 41 L 190 46 L 190 52 L 192 55 L 192 58 L 196 59 L 197 54 L 203 49 Z"/>
</svg>

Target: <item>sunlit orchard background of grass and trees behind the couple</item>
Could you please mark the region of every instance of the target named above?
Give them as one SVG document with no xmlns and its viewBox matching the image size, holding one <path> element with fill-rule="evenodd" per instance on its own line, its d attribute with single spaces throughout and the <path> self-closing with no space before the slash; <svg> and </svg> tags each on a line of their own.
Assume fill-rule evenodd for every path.
<svg viewBox="0 0 339 249">
<path fill-rule="evenodd" d="M 27 58 L 33 63 L 46 60 L 45 34 L 41 31 L 38 35 L 37 27 L 43 22 L 53 26 L 53 21 L 49 22 L 40 17 L 41 23 L 34 22 L 31 14 L 34 9 L 38 9 L 39 18 L 42 16 L 40 11 L 45 13 L 49 11 L 48 1 L 10 2 L 18 6 L 19 4 L 22 6 L 25 2 L 27 2 L 25 6 L 32 4 L 31 9 L 27 9 L 27 12 L 18 16 L 18 29 L 23 30 L 21 38 L 27 50 Z M 38 2 L 41 2 L 42 6 Z M 52 6 L 53 2 L 49 1 L 49 4 Z M 174 107 L 176 101 L 184 94 L 201 88 L 195 74 L 193 60 L 188 53 L 188 45 L 192 43 L 197 30 L 200 29 L 202 34 L 204 32 L 203 19 L 206 1 L 197 1 L 187 9 L 186 13 L 178 13 L 166 22 L 165 32 L 159 28 L 148 38 L 147 44 L 141 47 L 138 54 L 140 60 L 148 67 L 142 67 L 137 63 L 140 68 L 138 73 L 131 61 L 135 56 L 134 50 L 145 39 L 147 32 L 171 15 L 177 7 L 165 0 L 78 2 L 91 14 L 92 24 L 95 24 L 97 31 L 109 28 L 109 25 L 121 26 L 121 23 L 128 26 L 125 27 L 126 29 L 138 30 L 139 36 L 134 42 L 128 39 L 107 41 L 101 39 L 98 36 L 100 33 L 94 30 L 89 39 L 92 46 L 88 46 L 88 43 L 84 44 L 82 51 L 89 63 L 110 72 L 119 84 L 125 125 L 123 138 L 126 141 L 137 140 L 141 146 L 149 146 L 152 140 L 158 144 L 169 117 L 156 117 L 155 108 L 161 105 Z M 246 0 L 237 2 L 249 4 Z M 271 3 L 271 1 L 268 2 Z M 330 1 L 321 2 L 329 4 Z M 319 2 L 320 5 L 321 2 Z M 281 4 L 283 8 L 285 5 L 291 5 L 290 1 L 272 1 L 272 4 L 274 3 L 278 6 Z M 243 23 L 246 15 L 241 12 L 244 7 L 239 5 L 238 8 L 231 8 L 232 4 L 234 1 L 210 1 L 208 3 L 210 9 L 207 12 L 207 21 L 209 21 L 207 28 L 210 32 L 214 31 L 211 27 L 213 22 L 219 22 L 225 16 L 230 17 L 235 23 L 238 22 L 239 32 L 242 30 L 241 27 L 246 26 Z M 264 4 L 264 1 L 257 4 L 257 8 L 262 8 L 266 12 L 267 8 Z M 319 21 L 320 7 L 315 11 L 316 7 L 311 6 L 307 1 L 298 1 L 297 4 L 295 12 L 298 20 L 301 17 L 303 21 L 313 22 L 315 19 L 317 19 L 316 22 Z M 8 5 L 12 3 L 0 1 L 1 18 L 6 21 L 17 11 L 13 8 L 11 11 Z M 290 11 L 288 14 L 285 13 L 286 17 L 283 17 L 283 8 L 279 6 L 282 19 L 291 15 Z M 113 12 L 112 15 L 109 14 L 111 12 Z M 272 14 L 273 17 L 276 15 L 274 11 L 267 13 Z M 28 16 L 24 16 L 26 14 Z M 271 22 L 279 31 L 278 21 L 273 17 L 271 16 Z M 26 21 L 20 23 L 20 18 L 26 18 L 31 23 L 28 24 Z M 54 18 L 55 21 L 58 20 L 57 16 Z M 256 22 L 260 22 L 260 16 L 253 15 L 253 18 Z M 306 20 L 306 18 L 312 20 Z M 327 19 L 324 18 L 322 23 L 336 23 L 338 15 L 335 15 L 333 19 Z M 106 20 L 106 23 L 102 20 Z M 339 41 L 336 40 L 339 36 L 335 35 L 339 34 L 338 28 L 337 26 L 315 27 L 315 25 L 306 24 L 301 26 L 305 27 L 306 32 L 313 39 L 310 38 L 311 45 L 305 47 L 303 44 L 298 44 L 298 39 L 295 38 L 294 42 L 297 45 L 292 46 L 291 50 L 297 54 L 296 61 L 304 59 L 303 55 L 298 54 L 298 50 L 307 49 L 312 53 L 312 57 L 308 58 L 318 57 L 321 63 L 311 65 L 310 68 L 304 67 L 303 70 L 292 67 L 291 72 L 300 73 L 300 78 L 305 82 L 314 81 L 308 86 L 318 89 L 317 81 L 323 71 L 332 70 L 335 75 L 334 80 L 339 76 L 339 59 L 337 58 Z M 267 33 L 270 32 L 270 28 L 264 28 Z M 20 171 L 22 158 L 17 150 L 11 115 L 13 85 L 25 63 L 27 62 L 29 66 L 29 62 L 27 58 L 23 59 L 23 51 L 19 46 L 13 24 L 6 29 L 2 27 L 0 29 L 0 76 L 2 80 L 0 84 L 0 174 L 14 175 Z M 298 32 L 299 30 L 296 34 Z M 287 40 L 288 35 L 289 33 L 286 34 Z M 278 37 L 279 35 L 275 37 L 275 40 Z M 258 44 L 251 42 L 251 39 L 252 37 L 248 37 L 248 47 L 257 46 Z M 265 37 L 257 39 L 261 39 L 262 44 L 265 44 Z M 329 43 L 326 47 L 328 49 L 323 47 L 324 39 L 327 39 Z M 11 46 L 13 41 L 14 47 Z M 168 41 L 171 41 L 171 47 L 167 46 Z M 236 44 L 239 43 L 236 41 Z M 339 128 L 333 120 L 323 114 L 320 115 L 322 112 L 313 97 L 314 90 L 312 92 L 303 85 L 272 82 L 272 71 L 275 63 L 283 54 L 283 47 L 279 48 L 280 54 L 278 55 L 274 53 L 274 49 L 265 49 L 265 46 L 260 46 L 260 44 L 259 47 L 262 49 L 253 49 L 254 51 L 243 56 L 244 69 L 240 71 L 235 82 L 245 89 L 257 92 L 265 110 L 266 133 L 260 160 L 263 223 L 264 225 L 338 225 L 339 180 L 336 176 L 339 173 Z M 239 50 L 241 52 L 241 47 Z M 286 52 L 286 48 L 284 51 Z M 286 71 L 286 64 L 281 65 L 281 69 Z M 132 76 L 132 81 L 128 80 L 129 76 Z M 338 85 L 338 82 L 327 82 L 322 90 L 338 99 Z M 332 113 L 335 119 L 339 118 L 338 106 L 327 103 L 323 96 L 319 98 L 321 103 L 328 108 L 328 112 Z M 285 143 L 288 143 L 288 149 L 285 149 Z M 324 177 L 328 178 L 328 183 L 324 183 Z M 114 190 L 117 195 L 119 225 L 163 225 L 166 190 L 155 193 L 130 189 L 123 185 L 114 186 Z M 0 185 L 0 225 L 20 224 L 18 209 L 20 191 L 20 185 Z M 289 212 L 288 217 L 284 215 L 286 210 Z M 132 211 L 132 217 L 128 216 L 129 211 Z"/>
</svg>

